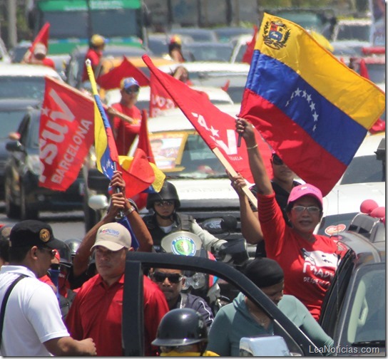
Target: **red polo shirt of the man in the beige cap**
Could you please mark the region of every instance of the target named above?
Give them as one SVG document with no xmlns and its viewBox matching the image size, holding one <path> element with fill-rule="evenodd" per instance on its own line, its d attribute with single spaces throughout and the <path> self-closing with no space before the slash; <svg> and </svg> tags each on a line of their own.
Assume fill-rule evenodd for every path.
<svg viewBox="0 0 388 359">
<path fill-rule="evenodd" d="M 111 286 L 97 274 L 83 283 L 66 316 L 66 326 L 76 340 L 93 338 L 98 356 L 121 356 L 121 321 L 124 275 Z M 168 312 L 165 296 L 158 286 L 144 276 L 144 348 L 145 355 L 155 355 L 150 343 L 156 337 L 159 322 Z"/>
</svg>

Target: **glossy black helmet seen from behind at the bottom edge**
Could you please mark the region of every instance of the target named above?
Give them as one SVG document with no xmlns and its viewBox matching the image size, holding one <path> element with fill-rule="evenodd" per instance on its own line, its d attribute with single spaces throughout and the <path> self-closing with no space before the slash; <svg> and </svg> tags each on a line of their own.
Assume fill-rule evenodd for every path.
<svg viewBox="0 0 388 359">
<path fill-rule="evenodd" d="M 208 341 L 203 316 L 192 308 L 172 309 L 159 323 L 153 345 L 178 346 Z"/>
</svg>

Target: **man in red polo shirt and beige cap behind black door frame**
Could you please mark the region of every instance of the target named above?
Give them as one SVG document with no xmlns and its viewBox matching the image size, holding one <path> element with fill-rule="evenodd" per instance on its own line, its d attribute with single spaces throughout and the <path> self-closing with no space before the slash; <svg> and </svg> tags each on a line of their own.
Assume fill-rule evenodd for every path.
<svg viewBox="0 0 388 359">
<path fill-rule="evenodd" d="M 103 224 L 92 246 L 98 274 L 83 283 L 66 317 L 73 338 L 93 338 L 101 356 L 121 356 L 121 321 L 126 254 L 133 251 L 131 234 L 122 224 Z M 165 296 L 158 286 L 144 276 L 144 343 L 145 355 L 156 355 L 151 345 L 158 325 L 168 312 Z"/>
</svg>

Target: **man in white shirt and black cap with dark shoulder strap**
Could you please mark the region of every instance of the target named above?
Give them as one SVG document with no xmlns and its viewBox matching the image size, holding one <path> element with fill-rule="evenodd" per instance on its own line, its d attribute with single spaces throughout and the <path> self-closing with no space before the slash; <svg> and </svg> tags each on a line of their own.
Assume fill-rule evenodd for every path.
<svg viewBox="0 0 388 359">
<path fill-rule="evenodd" d="M 74 340 L 61 318 L 53 290 L 38 278 L 55 256 L 58 239 L 48 224 L 26 220 L 10 233 L 9 265 L 0 270 L 0 303 L 16 279 L 4 311 L 0 336 L 3 356 L 96 355 L 91 338 Z M 0 320 L 1 323 L 1 320 Z"/>
</svg>

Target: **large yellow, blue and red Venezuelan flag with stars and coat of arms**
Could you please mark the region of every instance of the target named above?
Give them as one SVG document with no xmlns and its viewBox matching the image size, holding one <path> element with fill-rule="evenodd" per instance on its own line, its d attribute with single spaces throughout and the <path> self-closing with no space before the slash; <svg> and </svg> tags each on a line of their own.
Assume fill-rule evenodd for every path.
<svg viewBox="0 0 388 359">
<path fill-rule="evenodd" d="M 384 108 L 382 90 L 304 28 L 264 15 L 239 117 L 302 180 L 330 192 Z"/>
</svg>

